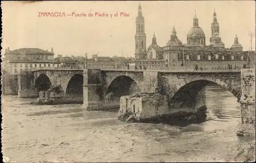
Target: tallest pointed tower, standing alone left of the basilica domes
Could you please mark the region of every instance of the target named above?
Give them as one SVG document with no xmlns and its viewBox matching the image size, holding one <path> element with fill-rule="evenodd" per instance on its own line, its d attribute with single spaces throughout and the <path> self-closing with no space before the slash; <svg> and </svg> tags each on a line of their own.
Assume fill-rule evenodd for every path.
<svg viewBox="0 0 256 163">
<path fill-rule="evenodd" d="M 138 16 L 136 17 L 135 58 L 146 58 L 145 21 L 142 15 L 142 7 L 140 4 L 138 6 Z"/>
</svg>

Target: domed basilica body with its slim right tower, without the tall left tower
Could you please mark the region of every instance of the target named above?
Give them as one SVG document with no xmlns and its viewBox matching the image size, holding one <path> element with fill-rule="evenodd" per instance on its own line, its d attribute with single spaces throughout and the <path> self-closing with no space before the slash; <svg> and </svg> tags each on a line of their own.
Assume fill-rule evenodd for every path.
<svg viewBox="0 0 256 163">
<path fill-rule="evenodd" d="M 197 15 L 193 19 L 193 27 L 188 31 L 187 44 L 177 37 L 175 28 L 170 35 L 170 40 L 163 47 L 165 66 L 168 67 L 194 67 L 209 66 L 217 68 L 240 69 L 247 63 L 247 53 L 243 52 L 243 47 L 238 42 L 238 37 L 234 38 L 234 43 L 230 49 L 225 48 L 221 41 L 220 26 L 217 20 L 217 14 L 214 11 L 213 21 L 211 24 L 210 44 L 205 44 L 205 33 L 199 27 Z"/>
</svg>

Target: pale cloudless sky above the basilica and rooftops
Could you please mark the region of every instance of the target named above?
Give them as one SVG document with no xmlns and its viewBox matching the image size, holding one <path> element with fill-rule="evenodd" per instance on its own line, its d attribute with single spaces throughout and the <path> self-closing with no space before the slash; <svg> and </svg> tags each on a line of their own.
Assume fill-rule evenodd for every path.
<svg viewBox="0 0 256 163">
<path fill-rule="evenodd" d="M 255 34 L 254 1 L 46 1 L 36 3 L 2 2 L 3 49 L 39 48 L 51 51 L 55 57 L 100 56 L 135 57 L 135 19 L 141 4 L 145 18 L 146 46 L 152 43 L 155 32 L 157 43 L 165 46 L 175 26 L 178 38 L 186 43 L 193 27 L 195 10 L 199 26 L 211 36 L 210 26 L 214 9 L 220 26 L 220 37 L 226 48 L 239 37 L 244 50 L 249 49 L 248 32 Z M 38 12 L 60 12 L 65 17 L 38 16 Z M 67 16 L 84 13 L 86 17 Z M 109 17 L 89 17 L 95 12 Z M 121 12 L 129 16 L 120 16 Z M 118 17 L 114 14 L 118 13 Z M 112 15 L 112 18 L 110 17 Z M 252 38 L 253 49 L 255 37 Z"/>
</svg>

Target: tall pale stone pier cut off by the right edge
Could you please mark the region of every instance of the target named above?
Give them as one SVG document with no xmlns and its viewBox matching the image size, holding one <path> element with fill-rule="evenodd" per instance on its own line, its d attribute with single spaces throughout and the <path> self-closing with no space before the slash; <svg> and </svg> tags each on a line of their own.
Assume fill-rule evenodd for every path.
<svg viewBox="0 0 256 163">
<path fill-rule="evenodd" d="M 241 69 L 241 116 L 237 135 L 255 136 L 255 68 Z"/>
</svg>

